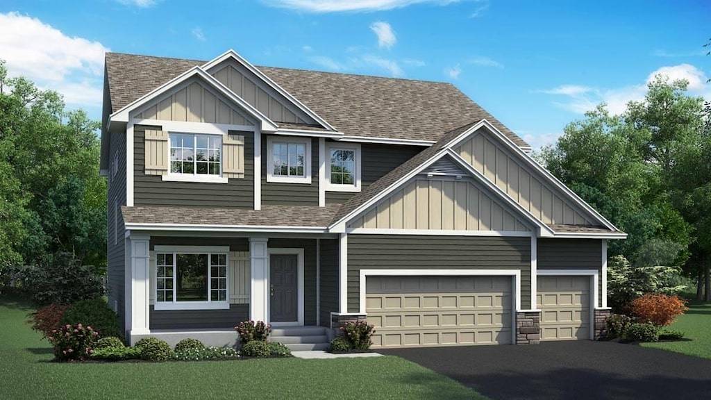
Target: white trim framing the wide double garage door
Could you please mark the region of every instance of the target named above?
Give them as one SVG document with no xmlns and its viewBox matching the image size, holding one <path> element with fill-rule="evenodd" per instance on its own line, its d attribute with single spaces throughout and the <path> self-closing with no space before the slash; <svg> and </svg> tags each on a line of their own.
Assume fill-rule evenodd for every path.
<svg viewBox="0 0 711 400">
<path fill-rule="evenodd" d="M 516 342 L 516 312 L 521 309 L 521 271 L 520 270 L 360 270 L 358 299 L 360 300 L 360 314 L 365 312 L 365 278 L 368 276 L 510 276 L 511 296 L 511 343 Z"/>
</svg>

